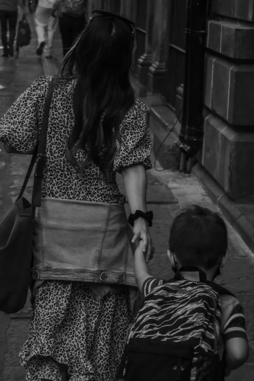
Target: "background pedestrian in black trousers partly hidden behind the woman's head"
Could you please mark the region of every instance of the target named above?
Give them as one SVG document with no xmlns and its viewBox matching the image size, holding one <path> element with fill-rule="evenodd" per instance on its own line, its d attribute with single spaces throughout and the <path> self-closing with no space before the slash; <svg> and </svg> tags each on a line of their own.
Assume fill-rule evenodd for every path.
<svg viewBox="0 0 254 381">
<path fill-rule="evenodd" d="M 76 37 L 86 26 L 87 0 L 54 0 L 52 15 L 59 17 L 59 28 L 65 56 Z"/>
</svg>

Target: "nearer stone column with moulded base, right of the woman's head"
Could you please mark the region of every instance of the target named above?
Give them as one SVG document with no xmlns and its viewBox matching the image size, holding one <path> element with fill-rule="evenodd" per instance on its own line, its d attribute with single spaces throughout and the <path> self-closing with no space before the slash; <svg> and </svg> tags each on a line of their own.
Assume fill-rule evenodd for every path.
<svg viewBox="0 0 254 381">
<path fill-rule="evenodd" d="M 166 81 L 167 19 L 168 0 L 154 1 L 154 19 L 152 33 L 152 65 L 148 70 L 147 91 L 152 95 L 151 105 L 164 103 L 163 94 Z"/>
</svg>

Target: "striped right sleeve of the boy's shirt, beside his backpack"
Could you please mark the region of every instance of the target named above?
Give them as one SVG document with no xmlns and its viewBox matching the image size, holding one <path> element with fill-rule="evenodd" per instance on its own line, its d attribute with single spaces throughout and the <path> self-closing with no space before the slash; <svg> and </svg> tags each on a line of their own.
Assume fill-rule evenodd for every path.
<svg viewBox="0 0 254 381">
<path fill-rule="evenodd" d="M 223 327 L 224 341 L 233 339 L 235 337 L 242 337 L 248 340 L 245 327 L 244 311 L 238 301 L 235 307 L 232 309 L 230 316 Z"/>
</svg>

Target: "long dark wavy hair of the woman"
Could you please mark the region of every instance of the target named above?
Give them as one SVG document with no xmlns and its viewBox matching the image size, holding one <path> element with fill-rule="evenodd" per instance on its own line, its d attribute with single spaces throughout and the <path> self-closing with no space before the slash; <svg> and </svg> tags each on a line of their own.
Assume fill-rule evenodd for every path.
<svg viewBox="0 0 254 381">
<path fill-rule="evenodd" d="M 91 162 L 106 173 L 115 155 L 115 139 L 121 144 L 119 127 L 135 101 L 132 49 L 132 29 L 127 22 L 114 16 L 97 16 L 63 60 L 58 76 L 77 78 L 73 95 L 75 124 L 66 157 L 81 174 Z M 86 159 L 77 166 L 74 155 L 80 148 L 85 150 Z"/>
</svg>

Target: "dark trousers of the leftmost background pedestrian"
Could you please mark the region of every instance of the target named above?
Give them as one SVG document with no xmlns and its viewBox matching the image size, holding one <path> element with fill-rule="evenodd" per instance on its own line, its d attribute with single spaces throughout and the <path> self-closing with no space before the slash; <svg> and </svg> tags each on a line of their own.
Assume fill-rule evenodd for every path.
<svg viewBox="0 0 254 381">
<path fill-rule="evenodd" d="M 17 20 L 18 12 L 0 11 L 1 38 L 5 52 L 8 47 L 13 50 Z M 9 41 L 7 40 L 7 24 L 9 25 Z"/>
</svg>

